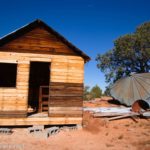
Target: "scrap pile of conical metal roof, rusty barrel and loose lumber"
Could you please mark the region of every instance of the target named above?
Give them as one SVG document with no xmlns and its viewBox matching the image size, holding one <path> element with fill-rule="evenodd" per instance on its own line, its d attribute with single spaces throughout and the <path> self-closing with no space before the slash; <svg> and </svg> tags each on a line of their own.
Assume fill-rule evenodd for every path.
<svg viewBox="0 0 150 150">
<path fill-rule="evenodd" d="M 121 113 L 117 110 L 115 114 L 108 114 L 108 116 L 114 116 L 109 120 L 133 116 L 150 117 L 150 73 L 131 73 L 128 77 L 117 80 L 110 87 L 110 95 L 131 108 L 129 112 L 121 109 Z M 94 116 L 103 115 L 94 114 Z"/>
</svg>

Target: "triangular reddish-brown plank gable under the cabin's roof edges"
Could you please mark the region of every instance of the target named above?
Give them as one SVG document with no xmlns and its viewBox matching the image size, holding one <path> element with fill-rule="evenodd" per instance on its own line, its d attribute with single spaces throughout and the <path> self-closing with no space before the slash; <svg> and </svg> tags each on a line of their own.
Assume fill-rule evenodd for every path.
<svg viewBox="0 0 150 150">
<path fill-rule="evenodd" d="M 5 44 L 2 48 L 7 51 L 33 52 L 48 54 L 77 55 L 55 35 L 43 28 L 37 27 L 19 38 Z"/>
</svg>

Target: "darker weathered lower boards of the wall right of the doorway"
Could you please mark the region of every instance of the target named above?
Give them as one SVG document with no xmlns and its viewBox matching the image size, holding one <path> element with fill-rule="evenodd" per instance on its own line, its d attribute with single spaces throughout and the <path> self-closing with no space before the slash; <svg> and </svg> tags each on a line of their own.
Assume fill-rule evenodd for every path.
<svg viewBox="0 0 150 150">
<path fill-rule="evenodd" d="M 49 116 L 82 117 L 83 84 L 51 82 Z"/>
</svg>

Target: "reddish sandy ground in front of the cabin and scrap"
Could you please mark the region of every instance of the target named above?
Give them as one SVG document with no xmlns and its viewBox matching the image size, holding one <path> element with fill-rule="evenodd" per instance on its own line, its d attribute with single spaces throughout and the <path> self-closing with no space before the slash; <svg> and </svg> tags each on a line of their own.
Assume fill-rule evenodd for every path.
<svg viewBox="0 0 150 150">
<path fill-rule="evenodd" d="M 113 106 L 107 101 L 85 106 Z M 27 128 L 14 128 L 13 134 L 0 134 L 0 150 L 150 150 L 150 119 L 122 119 L 107 122 L 84 113 L 80 130 L 60 131 L 43 138 L 29 134 Z"/>
</svg>

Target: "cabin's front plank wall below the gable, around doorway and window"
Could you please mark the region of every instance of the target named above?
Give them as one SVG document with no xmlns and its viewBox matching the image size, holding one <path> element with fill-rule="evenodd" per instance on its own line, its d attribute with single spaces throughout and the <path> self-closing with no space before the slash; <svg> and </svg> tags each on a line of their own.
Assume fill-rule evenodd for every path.
<svg viewBox="0 0 150 150">
<path fill-rule="evenodd" d="M 27 111 L 29 62 L 51 62 L 49 116 L 82 116 L 84 60 L 79 56 L 0 52 L 0 62 L 16 62 L 17 87 L 0 88 L 0 114 L 17 116 Z M 6 92 L 4 92 L 6 90 Z M 3 93 L 7 93 L 3 95 Z M 11 101 L 13 93 L 13 101 Z M 65 96 L 66 95 L 66 96 Z M 69 96 L 69 97 L 68 97 Z M 7 100 L 6 100 L 7 99 Z M 3 112 L 3 113 L 2 113 Z M 24 112 L 24 113 L 23 113 Z"/>
</svg>

